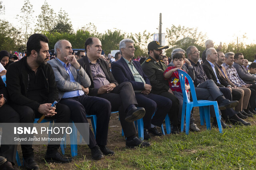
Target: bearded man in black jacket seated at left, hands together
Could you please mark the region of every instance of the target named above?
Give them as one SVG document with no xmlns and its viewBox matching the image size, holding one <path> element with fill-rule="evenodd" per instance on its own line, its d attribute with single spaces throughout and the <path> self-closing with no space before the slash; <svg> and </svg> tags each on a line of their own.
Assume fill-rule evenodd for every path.
<svg viewBox="0 0 256 170">
<path fill-rule="evenodd" d="M 70 120 L 68 106 L 58 103 L 56 108 L 51 107 L 55 100 L 58 101 L 58 90 L 52 67 L 46 63 L 50 57 L 48 50 L 48 38 L 42 34 L 33 34 L 28 38 L 27 57 L 8 67 L 6 87 L 12 107 L 19 113 L 21 123 L 33 123 L 35 117 L 42 115 L 54 118 L 55 124 L 67 123 Z M 33 134 L 29 137 L 33 138 Z M 47 161 L 72 160 L 58 152 L 60 145 L 51 145 L 51 142 L 49 144 L 45 156 Z M 21 142 L 21 149 L 24 166 L 27 169 L 38 169 L 32 143 L 24 145 L 24 142 Z"/>
</svg>

